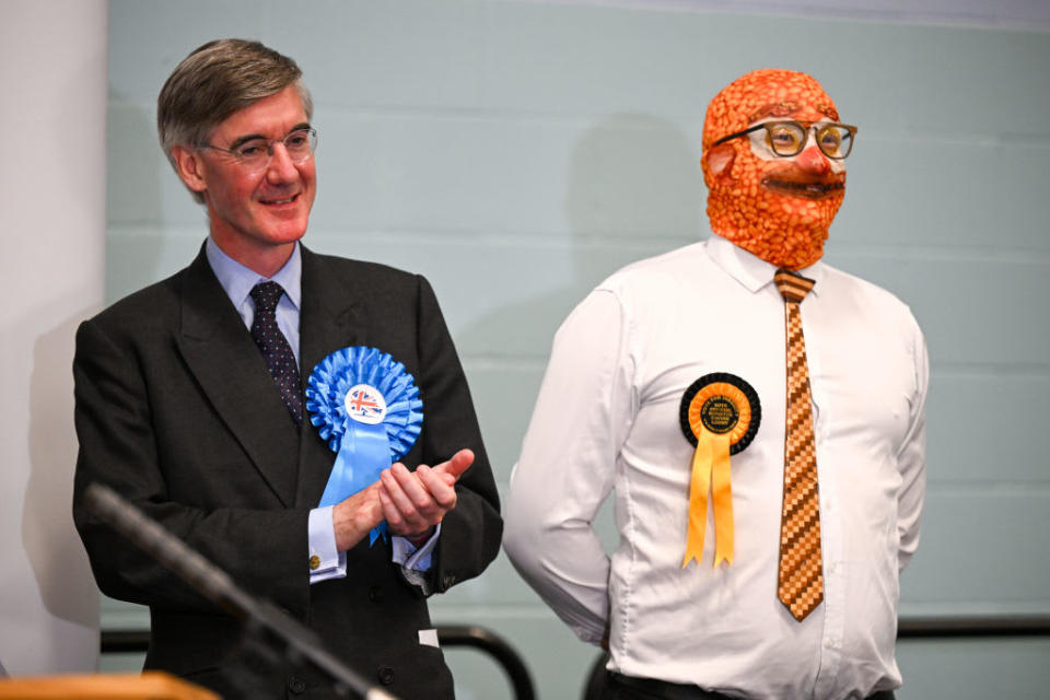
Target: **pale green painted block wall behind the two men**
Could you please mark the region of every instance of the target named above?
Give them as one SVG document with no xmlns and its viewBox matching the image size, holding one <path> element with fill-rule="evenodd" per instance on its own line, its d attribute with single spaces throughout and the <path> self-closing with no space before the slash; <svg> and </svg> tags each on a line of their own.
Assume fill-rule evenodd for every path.
<svg viewBox="0 0 1050 700">
<path fill-rule="evenodd" d="M 430 278 L 504 488 L 568 311 L 617 267 L 705 235 L 708 101 L 756 68 L 816 75 L 861 129 L 827 259 L 906 300 L 933 360 L 901 611 L 1050 612 L 1050 35 L 585 3 L 112 0 L 109 300 L 205 236 L 156 148 L 154 100 L 218 36 L 304 69 L 320 133 L 306 243 Z M 579 696 L 594 651 L 504 557 L 433 608 L 510 639 L 542 698 Z M 106 606 L 104 626 L 127 620 L 144 618 Z M 902 700 L 1050 686 L 1046 641 L 899 655 Z M 462 699 L 505 697 L 488 662 L 450 656 Z"/>
</svg>

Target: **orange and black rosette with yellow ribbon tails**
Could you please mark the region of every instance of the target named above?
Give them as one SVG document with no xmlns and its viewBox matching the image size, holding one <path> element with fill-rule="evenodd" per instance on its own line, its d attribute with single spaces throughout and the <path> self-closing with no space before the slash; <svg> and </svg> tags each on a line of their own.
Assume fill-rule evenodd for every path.
<svg viewBox="0 0 1050 700">
<path fill-rule="evenodd" d="M 733 489 L 730 455 L 746 448 L 758 433 L 762 407 L 751 385 L 725 372 L 704 374 L 681 395 L 681 432 L 696 447 L 689 483 L 689 528 L 685 569 L 703 557 L 708 493 L 714 514 L 714 565 L 733 563 Z"/>
</svg>

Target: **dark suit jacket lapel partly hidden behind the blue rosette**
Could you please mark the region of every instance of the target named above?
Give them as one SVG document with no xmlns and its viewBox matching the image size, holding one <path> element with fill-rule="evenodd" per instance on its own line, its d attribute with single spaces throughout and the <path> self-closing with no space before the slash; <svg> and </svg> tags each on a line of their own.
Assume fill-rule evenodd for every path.
<svg viewBox="0 0 1050 700">
<path fill-rule="evenodd" d="M 299 320 L 300 358 L 303 388 L 318 362 L 342 348 L 361 343 L 366 319 L 357 295 L 347 288 L 322 257 L 300 245 L 303 258 L 302 310 Z M 295 504 L 314 508 L 320 501 L 334 453 L 317 429 L 303 420 L 300 445 L 300 478 Z"/>
</svg>

